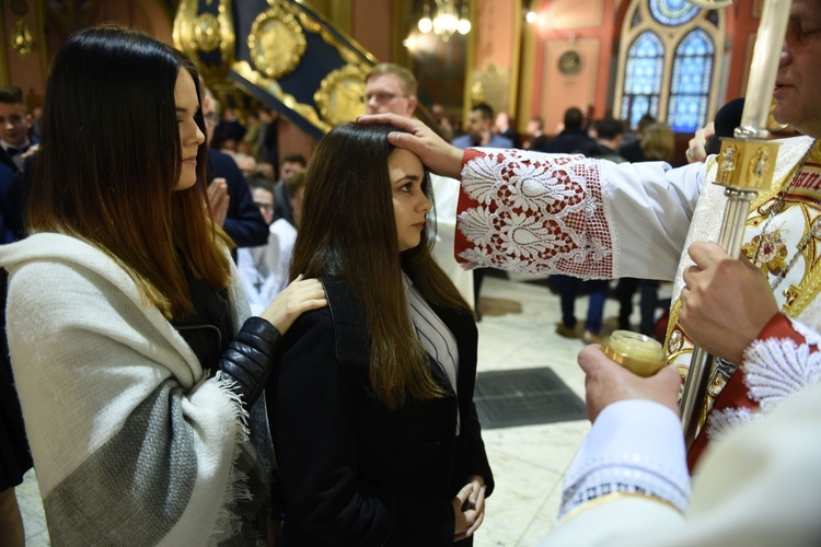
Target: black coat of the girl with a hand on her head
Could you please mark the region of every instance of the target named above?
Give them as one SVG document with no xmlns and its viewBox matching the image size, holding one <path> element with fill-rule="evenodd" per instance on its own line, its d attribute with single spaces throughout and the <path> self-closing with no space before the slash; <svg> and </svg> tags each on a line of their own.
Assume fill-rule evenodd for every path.
<svg viewBox="0 0 821 547">
<path fill-rule="evenodd" d="M 303 314 L 284 337 L 269 391 L 282 544 L 451 546 L 453 497 L 471 475 L 484 477 L 488 494 L 494 487 L 473 406 L 473 316 L 436 310 L 459 347 L 459 400 L 435 374 L 451 395 L 391 411 L 370 385 L 360 306 L 342 282 L 325 281 L 325 291 L 328 307 Z"/>
</svg>

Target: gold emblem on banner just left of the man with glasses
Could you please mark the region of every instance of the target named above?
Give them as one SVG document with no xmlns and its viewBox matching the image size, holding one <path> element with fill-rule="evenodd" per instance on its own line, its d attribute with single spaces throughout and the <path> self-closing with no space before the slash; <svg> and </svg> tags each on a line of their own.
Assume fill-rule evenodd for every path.
<svg viewBox="0 0 821 547">
<path fill-rule="evenodd" d="M 335 126 L 365 114 L 365 75 L 363 67 L 345 65 L 322 80 L 313 95 L 322 119 Z"/>
</svg>

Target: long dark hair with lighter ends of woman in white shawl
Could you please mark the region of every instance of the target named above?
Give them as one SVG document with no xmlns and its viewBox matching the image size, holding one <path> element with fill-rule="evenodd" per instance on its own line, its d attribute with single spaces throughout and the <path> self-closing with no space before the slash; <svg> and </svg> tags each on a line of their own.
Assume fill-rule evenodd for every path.
<svg viewBox="0 0 821 547">
<path fill-rule="evenodd" d="M 215 289 L 231 276 L 230 238 L 205 199 L 205 143 L 197 184 L 174 191 L 180 70 L 192 74 L 199 98 L 190 60 L 151 36 L 116 26 L 71 36 L 46 86 L 27 216 L 30 232 L 68 234 L 107 253 L 169 318 L 194 311 L 183 260 Z M 205 133 L 200 110 L 195 120 Z"/>
</svg>

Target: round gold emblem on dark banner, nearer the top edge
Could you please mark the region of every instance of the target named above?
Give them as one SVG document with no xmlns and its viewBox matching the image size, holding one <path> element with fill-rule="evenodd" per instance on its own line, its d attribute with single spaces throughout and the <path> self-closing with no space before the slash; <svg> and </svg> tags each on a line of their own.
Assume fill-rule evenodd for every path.
<svg viewBox="0 0 821 547">
<path fill-rule="evenodd" d="M 292 72 L 299 66 L 307 45 L 302 26 L 293 12 L 281 2 L 261 13 L 251 25 L 251 60 L 268 78 L 279 79 Z"/>
</svg>

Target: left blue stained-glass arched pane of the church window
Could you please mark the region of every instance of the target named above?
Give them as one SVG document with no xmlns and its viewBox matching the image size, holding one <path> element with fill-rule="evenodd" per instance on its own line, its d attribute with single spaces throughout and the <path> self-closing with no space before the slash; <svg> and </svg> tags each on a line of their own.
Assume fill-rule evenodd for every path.
<svg viewBox="0 0 821 547">
<path fill-rule="evenodd" d="M 627 50 L 624 70 L 622 117 L 635 126 L 645 114 L 658 116 L 661 77 L 664 70 L 664 46 L 652 31 L 645 31 Z"/>
</svg>

